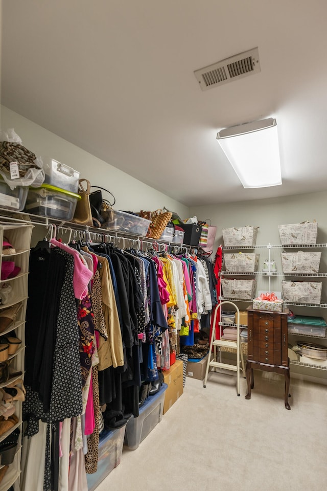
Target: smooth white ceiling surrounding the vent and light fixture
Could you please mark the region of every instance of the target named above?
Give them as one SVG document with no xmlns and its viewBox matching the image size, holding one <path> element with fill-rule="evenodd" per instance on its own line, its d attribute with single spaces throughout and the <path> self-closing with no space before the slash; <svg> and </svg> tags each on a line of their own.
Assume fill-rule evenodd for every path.
<svg viewBox="0 0 327 491">
<path fill-rule="evenodd" d="M 326 33 L 325 0 L 4 0 L 2 103 L 188 206 L 323 191 Z M 261 73 L 200 90 L 255 47 Z M 269 116 L 283 185 L 243 189 L 217 131 Z"/>
</svg>

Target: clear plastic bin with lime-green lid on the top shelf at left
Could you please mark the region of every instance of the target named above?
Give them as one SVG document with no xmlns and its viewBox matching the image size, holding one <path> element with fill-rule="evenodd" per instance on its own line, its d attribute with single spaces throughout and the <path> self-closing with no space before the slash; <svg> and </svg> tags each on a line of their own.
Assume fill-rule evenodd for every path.
<svg viewBox="0 0 327 491">
<path fill-rule="evenodd" d="M 81 199 L 79 194 L 56 188 L 50 184 L 42 184 L 40 188 L 29 189 L 25 211 L 34 215 L 71 221 L 78 199 Z"/>
</svg>

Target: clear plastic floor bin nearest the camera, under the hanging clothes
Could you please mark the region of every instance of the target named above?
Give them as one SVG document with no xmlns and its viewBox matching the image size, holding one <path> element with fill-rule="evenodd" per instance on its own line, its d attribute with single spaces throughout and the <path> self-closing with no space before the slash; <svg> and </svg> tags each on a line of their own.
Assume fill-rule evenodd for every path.
<svg viewBox="0 0 327 491">
<path fill-rule="evenodd" d="M 105 477 L 120 463 L 125 429 L 126 425 L 117 430 L 103 430 L 100 433 L 98 470 L 94 474 L 86 474 L 88 491 L 94 491 Z"/>
</svg>

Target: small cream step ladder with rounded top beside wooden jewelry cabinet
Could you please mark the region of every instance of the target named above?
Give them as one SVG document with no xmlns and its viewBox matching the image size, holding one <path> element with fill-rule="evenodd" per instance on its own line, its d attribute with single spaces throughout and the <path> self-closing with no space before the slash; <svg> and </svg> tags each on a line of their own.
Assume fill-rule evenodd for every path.
<svg viewBox="0 0 327 491">
<path fill-rule="evenodd" d="M 233 307 L 236 308 L 237 311 L 237 341 L 227 341 L 224 339 L 219 339 L 216 340 L 216 320 L 217 320 L 217 313 L 219 308 L 228 303 L 229 305 L 232 305 Z M 208 355 L 208 362 L 206 365 L 206 370 L 205 370 L 205 377 L 204 377 L 204 382 L 203 382 L 203 387 L 206 387 L 206 381 L 208 377 L 208 372 L 209 372 L 209 367 L 213 367 L 215 369 L 217 368 L 224 368 L 225 370 L 232 370 L 234 372 L 237 372 L 237 395 L 240 395 L 240 369 L 242 369 L 243 376 L 245 378 L 245 368 L 244 368 L 244 360 L 243 360 L 243 353 L 242 350 L 240 349 L 240 310 L 237 305 L 233 302 L 220 302 L 215 309 L 215 314 L 214 314 L 214 321 L 213 321 L 213 328 L 212 328 L 212 333 L 211 333 L 211 341 L 210 341 L 210 347 L 209 347 L 209 355 Z M 211 360 L 211 354 L 212 354 L 212 349 L 214 346 L 214 359 Z M 222 362 L 217 362 L 217 348 L 235 348 L 236 349 L 236 365 L 229 365 L 228 363 L 222 363 Z M 220 354 L 220 360 L 221 360 L 221 351 L 218 349 L 218 353 Z M 242 363 L 242 368 L 240 367 L 240 362 Z"/>
</svg>

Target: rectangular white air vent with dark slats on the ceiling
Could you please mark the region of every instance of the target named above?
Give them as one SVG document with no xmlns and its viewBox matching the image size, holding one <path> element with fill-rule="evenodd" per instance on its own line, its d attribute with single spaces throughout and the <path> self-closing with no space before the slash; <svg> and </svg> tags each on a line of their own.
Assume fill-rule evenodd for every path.
<svg viewBox="0 0 327 491">
<path fill-rule="evenodd" d="M 217 87 L 258 72 L 260 72 L 259 51 L 258 48 L 253 48 L 253 50 L 239 53 L 213 65 L 205 66 L 201 70 L 196 70 L 194 75 L 202 91 L 206 91 L 208 88 Z"/>
</svg>

